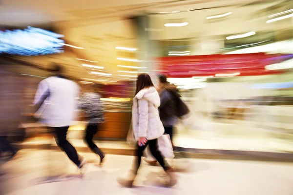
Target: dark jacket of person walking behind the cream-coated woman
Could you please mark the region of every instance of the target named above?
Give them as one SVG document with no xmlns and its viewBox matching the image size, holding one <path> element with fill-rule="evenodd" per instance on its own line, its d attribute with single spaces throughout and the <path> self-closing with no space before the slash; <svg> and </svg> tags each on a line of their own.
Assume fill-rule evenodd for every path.
<svg viewBox="0 0 293 195">
<path fill-rule="evenodd" d="M 160 92 L 160 118 L 164 127 L 173 126 L 177 121 L 176 102 L 173 93 L 178 93 L 175 85 L 167 84 Z"/>
</svg>

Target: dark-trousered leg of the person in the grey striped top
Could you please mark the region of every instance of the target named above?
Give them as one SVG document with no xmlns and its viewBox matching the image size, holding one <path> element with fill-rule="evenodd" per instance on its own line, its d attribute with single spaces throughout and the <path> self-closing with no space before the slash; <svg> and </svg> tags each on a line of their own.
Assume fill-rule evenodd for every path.
<svg viewBox="0 0 293 195">
<path fill-rule="evenodd" d="M 93 142 L 93 137 L 98 131 L 98 124 L 88 124 L 86 131 L 85 131 L 85 141 L 88 147 L 93 151 L 95 154 L 99 155 L 101 158 L 101 164 L 103 163 L 103 159 L 105 158 L 103 152 L 98 148 L 98 146 Z"/>
</svg>

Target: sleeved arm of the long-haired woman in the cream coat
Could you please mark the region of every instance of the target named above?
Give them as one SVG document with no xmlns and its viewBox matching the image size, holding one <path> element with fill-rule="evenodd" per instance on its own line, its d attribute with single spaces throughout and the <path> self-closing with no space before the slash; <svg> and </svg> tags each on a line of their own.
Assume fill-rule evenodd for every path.
<svg viewBox="0 0 293 195">
<path fill-rule="evenodd" d="M 148 128 L 148 101 L 146 99 L 138 100 L 138 137 L 146 137 Z"/>
</svg>

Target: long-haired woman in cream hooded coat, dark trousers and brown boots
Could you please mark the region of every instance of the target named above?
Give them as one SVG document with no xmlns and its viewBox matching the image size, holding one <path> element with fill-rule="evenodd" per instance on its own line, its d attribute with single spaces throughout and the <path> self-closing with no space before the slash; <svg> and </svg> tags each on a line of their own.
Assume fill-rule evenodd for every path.
<svg viewBox="0 0 293 195">
<path fill-rule="evenodd" d="M 159 117 L 159 106 L 160 98 L 151 78 L 148 74 L 140 74 L 137 77 L 132 106 L 133 136 L 137 141 L 136 158 L 129 177 L 118 179 L 122 186 L 132 187 L 141 165 L 143 152 L 147 146 L 170 178 L 166 185 L 173 186 L 176 184 L 176 180 L 171 173 L 172 168 L 164 161 L 161 152 L 158 150 L 158 138 L 164 134 L 164 127 Z"/>
</svg>

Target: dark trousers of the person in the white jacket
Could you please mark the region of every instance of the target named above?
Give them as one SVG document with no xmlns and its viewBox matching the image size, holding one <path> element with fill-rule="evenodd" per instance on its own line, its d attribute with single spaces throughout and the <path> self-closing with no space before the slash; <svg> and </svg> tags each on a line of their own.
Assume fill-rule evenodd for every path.
<svg viewBox="0 0 293 195">
<path fill-rule="evenodd" d="M 74 162 L 77 166 L 80 165 L 79 156 L 75 150 L 75 148 L 69 143 L 69 141 L 66 139 L 67 136 L 67 127 L 54 127 L 55 130 L 55 140 L 59 148 L 61 148 L 66 155 L 69 157 L 69 159 Z"/>
</svg>

